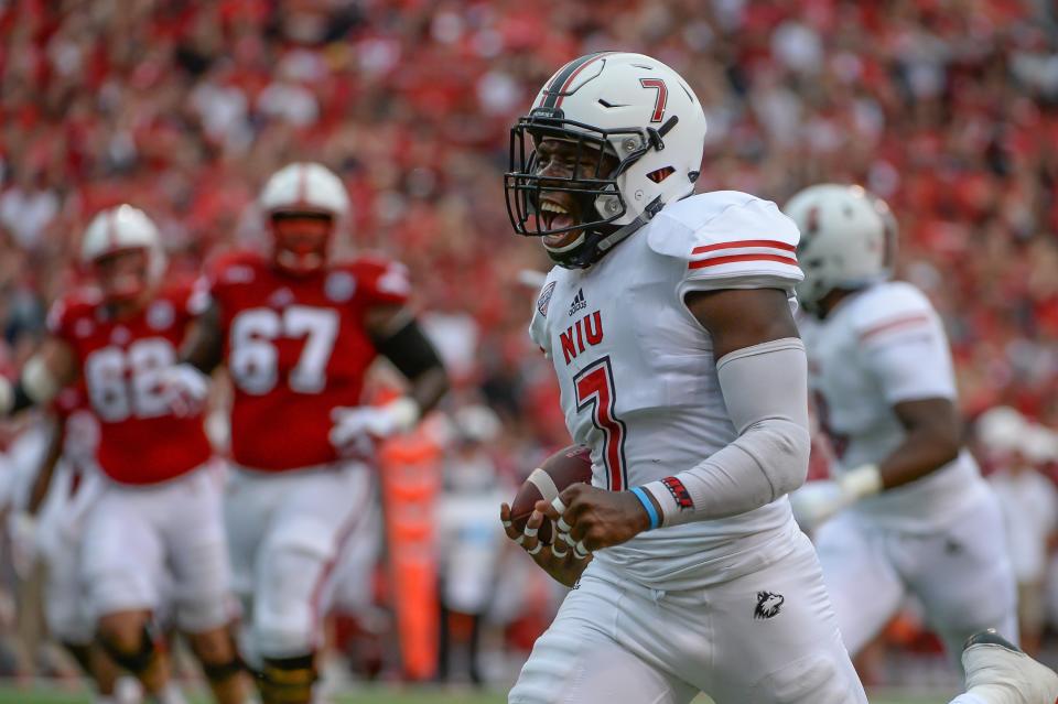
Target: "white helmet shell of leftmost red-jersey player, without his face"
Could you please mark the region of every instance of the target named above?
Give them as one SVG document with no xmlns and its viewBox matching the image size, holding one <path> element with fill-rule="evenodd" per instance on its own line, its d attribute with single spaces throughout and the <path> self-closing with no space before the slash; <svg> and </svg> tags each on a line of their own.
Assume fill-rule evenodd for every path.
<svg viewBox="0 0 1058 704">
<path fill-rule="evenodd" d="M 143 210 L 125 204 L 98 213 L 82 238 L 80 260 L 87 267 L 97 267 L 109 254 L 137 249 L 147 254 L 144 280 L 137 283 L 123 277 L 111 292 L 114 297 L 131 299 L 143 288 L 158 284 L 165 273 L 161 235 Z"/>
</svg>

